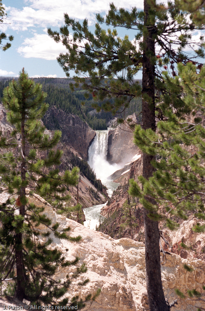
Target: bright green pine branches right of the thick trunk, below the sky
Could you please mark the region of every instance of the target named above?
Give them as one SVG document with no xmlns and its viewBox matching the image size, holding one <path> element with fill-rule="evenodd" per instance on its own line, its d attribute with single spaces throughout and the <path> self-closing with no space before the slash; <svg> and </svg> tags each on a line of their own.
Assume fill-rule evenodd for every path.
<svg viewBox="0 0 205 311">
<path fill-rule="evenodd" d="M 178 72 L 174 78 L 164 73 L 166 91 L 161 93 L 158 107 L 165 120 L 157 123 L 157 133 L 139 126 L 135 129 L 135 143 L 143 152 L 157 154 L 160 160 L 153 161 L 157 169 L 153 177 L 149 180 L 139 178 L 143 190 L 134 181 L 131 181 L 130 189 L 130 194 L 139 197 L 141 202 L 144 202 L 144 196 L 149 196 L 159 206 L 163 204 L 166 214 L 159 211 L 156 204 L 151 204 L 148 209 L 158 210 L 170 228 L 174 224 L 167 219 L 167 213 L 182 219 L 193 214 L 199 220 L 205 220 L 205 67 L 199 70 L 193 63 L 186 66 L 180 63 Z M 203 232 L 204 228 L 198 222 L 193 230 Z"/>
</svg>

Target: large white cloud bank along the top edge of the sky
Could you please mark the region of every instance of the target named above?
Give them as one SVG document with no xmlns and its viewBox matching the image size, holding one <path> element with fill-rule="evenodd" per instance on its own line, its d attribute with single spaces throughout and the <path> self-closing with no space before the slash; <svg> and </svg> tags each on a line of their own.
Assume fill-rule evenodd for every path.
<svg viewBox="0 0 205 311">
<path fill-rule="evenodd" d="M 64 13 L 72 18 L 88 18 L 89 24 L 95 22 L 96 13 L 105 13 L 109 10 L 111 0 L 29 0 L 22 10 L 15 7 L 6 7 L 14 30 L 27 30 L 28 27 L 62 26 Z M 14 2 L 15 3 L 15 2 Z M 116 6 L 131 9 L 137 6 L 143 8 L 143 0 L 118 0 Z"/>
</svg>

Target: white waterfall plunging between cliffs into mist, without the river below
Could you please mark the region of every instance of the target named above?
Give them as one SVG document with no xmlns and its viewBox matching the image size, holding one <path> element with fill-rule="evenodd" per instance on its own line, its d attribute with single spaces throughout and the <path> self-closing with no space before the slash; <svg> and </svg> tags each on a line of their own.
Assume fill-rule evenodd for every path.
<svg viewBox="0 0 205 311">
<path fill-rule="evenodd" d="M 110 164 L 106 160 L 108 132 L 108 130 L 96 131 L 96 136 L 88 151 L 88 164 L 103 184 L 107 184 L 107 177 L 121 168 L 116 163 Z"/>
</svg>

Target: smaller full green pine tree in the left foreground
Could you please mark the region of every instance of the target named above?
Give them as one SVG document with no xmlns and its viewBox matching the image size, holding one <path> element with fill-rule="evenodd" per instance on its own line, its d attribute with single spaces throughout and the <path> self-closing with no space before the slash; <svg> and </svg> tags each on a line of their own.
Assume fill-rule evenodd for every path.
<svg viewBox="0 0 205 311">
<path fill-rule="evenodd" d="M 48 107 L 45 97 L 42 86 L 31 81 L 24 69 L 19 79 L 11 81 L 4 90 L 3 105 L 13 131 L 0 140 L 1 188 L 9 193 L 8 200 L 0 205 L 0 278 L 13 278 L 15 297 L 20 301 L 25 298 L 55 304 L 60 303 L 71 280 L 67 278 L 61 283 L 53 276 L 59 266 L 76 265 L 78 258 L 68 262 L 57 248 L 51 249 L 49 234 L 74 241 L 80 237 L 70 238 L 69 228 L 59 232 L 58 224 L 53 225 L 43 214 L 43 203 L 35 206 L 29 197 L 34 191 L 43 197 L 49 195 L 56 211 L 65 212 L 62 203 L 69 196 L 64 192 L 68 185 L 77 183 L 78 169 L 59 174 L 56 168 L 62 152 L 52 147 L 57 145 L 61 132 L 54 132 L 52 138 L 45 132 L 41 121 Z M 42 152 L 47 155 L 40 157 Z M 48 228 L 41 233 L 45 242 L 39 239 L 39 225 Z M 79 267 L 76 275 L 84 271 L 84 266 Z M 63 299 L 61 304 L 67 301 Z"/>
</svg>

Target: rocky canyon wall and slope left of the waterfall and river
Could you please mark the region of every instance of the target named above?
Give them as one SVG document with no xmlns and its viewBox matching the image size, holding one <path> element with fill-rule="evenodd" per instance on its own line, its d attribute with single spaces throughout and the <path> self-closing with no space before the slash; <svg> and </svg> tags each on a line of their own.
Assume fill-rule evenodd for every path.
<svg viewBox="0 0 205 311">
<path fill-rule="evenodd" d="M 55 124 L 57 124 L 54 122 L 55 120 L 58 120 L 59 125 L 55 126 Z M 62 140 L 55 147 L 63 150 L 60 171 L 71 168 L 69 159 L 72 153 L 79 157 L 87 157 L 89 145 L 95 136 L 95 131 L 89 128 L 87 123 L 82 122 L 78 116 L 66 114 L 62 110 L 58 111 L 56 107 L 48 109 L 44 121 L 50 124 L 51 129 L 59 128 L 62 131 Z M 12 130 L 13 128 L 7 122 L 6 111 L 0 104 L 0 131 L 3 135 L 7 136 L 12 132 Z M 48 135 L 52 136 L 52 130 L 46 129 L 45 131 Z M 20 140 L 19 134 L 17 134 L 17 140 Z M 17 154 L 16 152 L 18 152 L 17 148 L 12 149 L 11 151 L 14 154 Z M 45 156 L 47 151 L 37 152 L 38 156 L 42 158 Z M 71 206 L 75 205 L 77 203 L 77 188 L 70 187 L 69 194 L 71 195 Z M 93 184 L 83 174 L 81 174 L 79 181 L 79 203 L 82 204 L 83 207 L 90 207 L 95 204 L 102 204 L 106 201 L 107 197 L 105 197 L 103 193 L 97 191 Z"/>
</svg>

